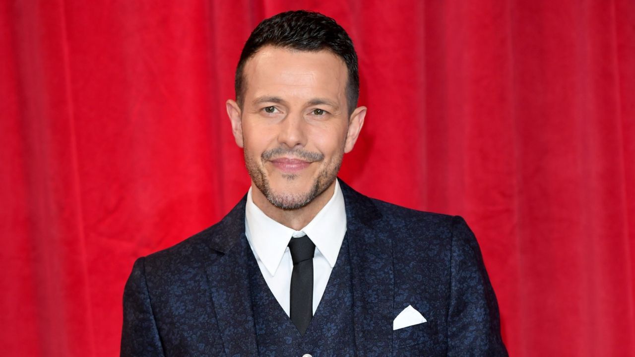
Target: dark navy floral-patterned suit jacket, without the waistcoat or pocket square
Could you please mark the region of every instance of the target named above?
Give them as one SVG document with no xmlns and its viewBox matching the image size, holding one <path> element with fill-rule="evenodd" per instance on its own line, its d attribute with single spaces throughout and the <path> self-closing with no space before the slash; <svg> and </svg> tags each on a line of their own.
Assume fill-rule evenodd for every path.
<svg viewBox="0 0 635 357">
<path fill-rule="evenodd" d="M 496 298 L 465 221 L 340 185 L 356 353 L 507 356 Z M 245 198 L 214 226 L 135 262 L 124 290 L 122 356 L 257 355 L 244 207 Z M 408 305 L 427 322 L 393 331 Z"/>
</svg>

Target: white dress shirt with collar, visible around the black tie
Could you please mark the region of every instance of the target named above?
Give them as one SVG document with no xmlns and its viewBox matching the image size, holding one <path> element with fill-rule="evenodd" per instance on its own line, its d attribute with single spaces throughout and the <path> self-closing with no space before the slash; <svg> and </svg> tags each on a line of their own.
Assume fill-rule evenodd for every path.
<svg viewBox="0 0 635 357">
<path fill-rule="evenodd" d="M 287 245 L 291 237 L 309 236 L 316 245 L 316 253 L 313 257 L 313 314 L 315 314 L 346 232 L 344 195 L 339 182 L 335 180 L 333 197 L 300 231 L 279 224 L 265 215 L 253 203 L 250 188 L 247 192 L 244 223 L 247 240 L 262 276 L 288 316 L 290 316 L 289 295 L 293 261 L 291 261 L 291 253 Z"/>
</svg>

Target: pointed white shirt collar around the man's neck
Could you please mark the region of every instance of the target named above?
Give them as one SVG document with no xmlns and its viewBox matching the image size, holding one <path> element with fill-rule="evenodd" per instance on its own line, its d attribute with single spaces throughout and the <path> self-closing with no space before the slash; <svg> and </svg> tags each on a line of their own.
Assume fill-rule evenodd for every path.
<svg viewBox="0 0 635 357">
<path fill-rule="evenodd" d="M 340 183 L 337 179 L 335 180 L 335 190 L 331 199 L 300 231 L 279 224 L 265 215 L 253 203 L 250 187 L 245 206 L 245 227 L 251 248 L 272 276 L 276 274 L 291 237 L 305 234 L 309 236 L 332 268 L 337 261 L 346 232 L 344 194 L 340 189 Z"/>
</svg>

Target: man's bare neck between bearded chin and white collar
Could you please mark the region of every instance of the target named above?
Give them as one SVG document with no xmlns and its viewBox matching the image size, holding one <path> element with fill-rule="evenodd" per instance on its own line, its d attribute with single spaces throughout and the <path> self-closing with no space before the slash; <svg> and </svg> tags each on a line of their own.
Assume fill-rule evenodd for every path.
<svg viewBox="0 0 635 357">
<path fill-rule="evenodd" d="M 321 194 L 309 202 L 308 205 L 296 210 L 283 210 L 282 208 L 272 205 L 269 199 L 251 182 L 251 198 L 253 199 L 253 203 L 272 220 L 291 229 L 295 229 L 296 231 L 300 231 L 316 217 L 318 212 L 320 212 L 331 197 L 333 197 L 334 191 L 335 180 L 333 180 L 333 183 Z"/>
</svg>

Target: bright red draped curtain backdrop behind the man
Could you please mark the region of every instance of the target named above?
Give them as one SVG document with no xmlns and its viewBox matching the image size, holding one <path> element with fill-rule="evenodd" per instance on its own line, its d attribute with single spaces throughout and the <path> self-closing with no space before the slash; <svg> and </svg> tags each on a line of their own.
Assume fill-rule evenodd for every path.
<svg viewBox="0 0 635 357">
<path fill-rule="evenodd" d="M 511 355 L 634 356 L 632 0 L 2 1 L 1 354 L 118 353 L 133 260 L 246 192 L 224 101 L 298 8 L 359 53 L 340 176 L 465 217 Z"/>
</svg>

